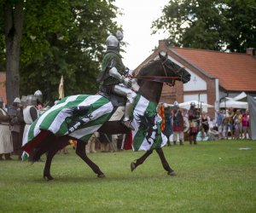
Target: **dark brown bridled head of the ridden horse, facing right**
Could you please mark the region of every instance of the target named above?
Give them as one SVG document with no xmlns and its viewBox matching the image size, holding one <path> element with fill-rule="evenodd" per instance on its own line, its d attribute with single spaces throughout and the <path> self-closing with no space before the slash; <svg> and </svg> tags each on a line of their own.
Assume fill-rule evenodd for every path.
<svg viewBox="0 0 256 213">
<path fill-rule="evenodd" d="M 164 68 L 166 77 L 173 77 L 174 79 L 181 81 L 182 83 L 188 83 L 190 81 L 190 74 L 182 66 L 178 66 L 171 59 L 168 58 L 168 55 L 161 55 L 159 53 L 161 64 Z M 172 83 L 174 84 L 174 82 Z"/>
</svg>

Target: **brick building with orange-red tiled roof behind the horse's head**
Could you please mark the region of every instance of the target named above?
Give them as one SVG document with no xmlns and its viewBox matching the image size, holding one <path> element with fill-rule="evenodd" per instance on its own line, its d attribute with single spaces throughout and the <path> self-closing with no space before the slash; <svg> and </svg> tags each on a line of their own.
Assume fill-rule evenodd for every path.
<svg viewBox="0 0 256 213">
<path fill-rule="evenodd" d="M 218 109 L 224 97 L 234 97 L 241 92 L 256 96 L 256 57 L 254 49 L 246 54 L 224 53 L 207 49 L 172 47 L 166 40 L 160 40 L 158 48 L 137 67 L 140 69 L 149 60 L 166 52 L 179 66 L 191 74 L 189 83 L 177 82 L 174 87 L 164 86 L 161 100 L 169 104 L 174 101 L 202 101 Z M 208 109 L 211 115 L 214 108 Z"/>
</svg>

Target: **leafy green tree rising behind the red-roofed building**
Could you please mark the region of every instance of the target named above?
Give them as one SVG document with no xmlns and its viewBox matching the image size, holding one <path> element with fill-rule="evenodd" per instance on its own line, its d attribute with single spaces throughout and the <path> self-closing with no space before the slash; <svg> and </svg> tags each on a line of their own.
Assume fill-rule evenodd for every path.
<svg viewBox="0 0 256 213">
<path fill-rule="evenodd" d="M 255 0 L 171 0 L 153 22 L 179 47 L 245 52 L 256 46 Z"/>
</svg>

